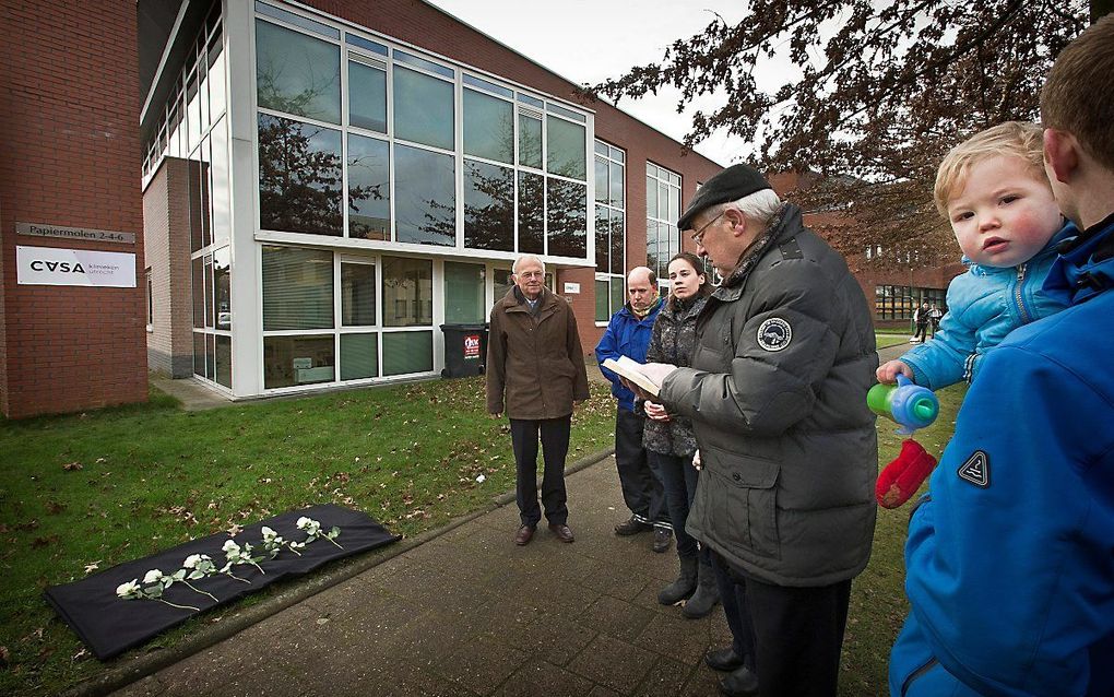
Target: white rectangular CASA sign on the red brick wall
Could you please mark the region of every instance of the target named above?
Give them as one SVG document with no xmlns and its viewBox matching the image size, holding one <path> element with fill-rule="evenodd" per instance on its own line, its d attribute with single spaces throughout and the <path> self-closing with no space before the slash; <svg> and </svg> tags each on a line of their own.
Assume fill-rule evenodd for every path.
<svg viewBox="0 0 1114 697">
<path fill-rule="evenodd" d="M 20 285 L 136 287 L 135 254 L 17 245 L 16 265 Z"/>
</svg>

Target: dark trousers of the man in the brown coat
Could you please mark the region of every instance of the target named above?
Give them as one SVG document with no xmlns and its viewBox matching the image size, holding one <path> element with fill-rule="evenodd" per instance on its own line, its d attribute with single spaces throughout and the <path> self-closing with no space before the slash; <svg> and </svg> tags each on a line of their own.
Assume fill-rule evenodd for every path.
<svg viewBox="0 0 1114 697">
<path fill-rule="evenodd" d="M 537 525 L 541 520 L 538 507 L 538 438 L 541 439 L 541 505 L 551 525 L 568 522 L 568 493 L 565 490 L 565 456 L 573 415 L 548 419 L 510 419 L 510 443 L 515 449 L 517 471 L 516 498 L 524 525 Z"/>
</svg>

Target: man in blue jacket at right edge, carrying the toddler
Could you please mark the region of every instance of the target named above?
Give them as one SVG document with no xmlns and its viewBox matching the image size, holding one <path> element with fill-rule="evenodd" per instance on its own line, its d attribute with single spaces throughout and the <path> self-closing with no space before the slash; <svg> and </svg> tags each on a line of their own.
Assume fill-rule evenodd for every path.
<svg viewBox="0 0 1114 697">
<path fill-rule="evenodd" d="M 1114 695 L 1114 16 L 1040 94 L 1066 310 L 988 355 L 909 521 L 893 695 Z"/>
</svg>

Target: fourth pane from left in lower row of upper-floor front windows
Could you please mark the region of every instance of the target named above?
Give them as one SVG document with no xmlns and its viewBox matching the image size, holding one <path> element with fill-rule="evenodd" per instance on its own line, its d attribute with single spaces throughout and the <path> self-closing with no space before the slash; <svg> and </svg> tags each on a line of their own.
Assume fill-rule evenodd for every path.
<svg viewBox="0 0 1114 697">
<path fill-rule="evenodd" d="M 515 171 L 465 161 L 465 246 L 515 251 Z"/>
</svg>

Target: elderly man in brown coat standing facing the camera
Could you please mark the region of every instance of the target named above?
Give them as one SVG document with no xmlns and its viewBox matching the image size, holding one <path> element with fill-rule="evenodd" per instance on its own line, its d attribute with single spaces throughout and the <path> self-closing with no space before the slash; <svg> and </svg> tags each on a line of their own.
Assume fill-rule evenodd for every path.
<svg viewBox="0 0 1114 697">
<path fill-rule="evenodd" d="M 538 438 L 544 469 L 541 504 L 549 530 L 573 541 L 568 527 L 565 457 L 573 405 L 588 398 L 588 375 L 568 302 L 546 290 L 546 268 L 537 256 L 515 261 L 515 287 L 491 308 L 488 341 L 488 413 L 510 418 L 521 526 L 515 543 L 529 544 L 541 520 L 538 506 Z"/>
</svg>

